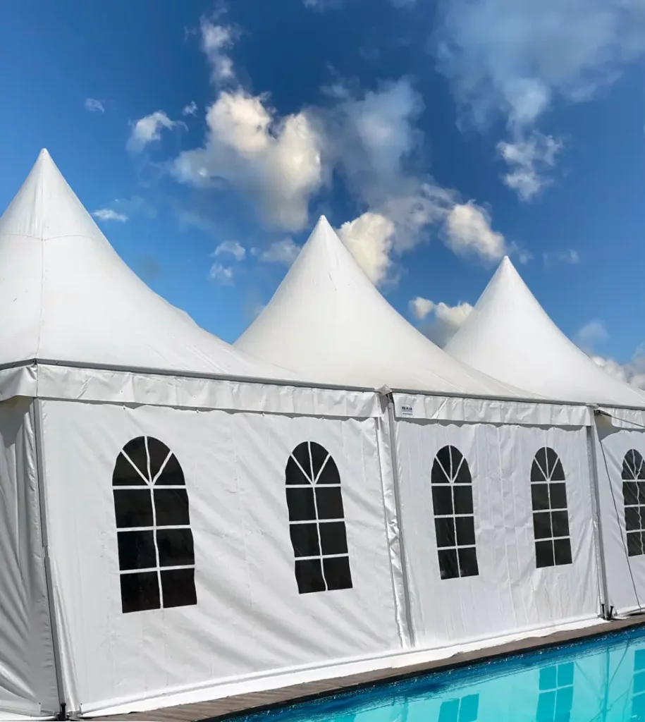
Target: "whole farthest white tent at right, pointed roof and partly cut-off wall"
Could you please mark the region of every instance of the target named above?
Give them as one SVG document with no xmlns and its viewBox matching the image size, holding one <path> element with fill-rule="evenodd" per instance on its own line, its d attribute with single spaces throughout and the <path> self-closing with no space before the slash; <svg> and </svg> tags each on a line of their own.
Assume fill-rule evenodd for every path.
<svg viewBox="0 0 645 722">
<path fill-rule="evenodd" d="M 645 464 L 641 464 L 645 457 L 642 393 L 605 373 L 564 336 L 508 258 L 501 262 L 446 350 L 506 383 L 550 399 L 601 407 L 602 417 L 597 415 L 589 443 L 595 449 L 605 604 L 618 612 L 642 609 L 645 487 L 641 498 L 637 481 L 645 480 Z M 620 406 L 629 408 L 617 408 Z"/>
</svg>

